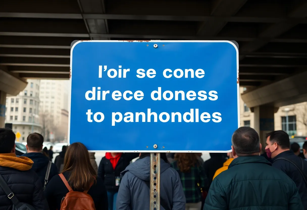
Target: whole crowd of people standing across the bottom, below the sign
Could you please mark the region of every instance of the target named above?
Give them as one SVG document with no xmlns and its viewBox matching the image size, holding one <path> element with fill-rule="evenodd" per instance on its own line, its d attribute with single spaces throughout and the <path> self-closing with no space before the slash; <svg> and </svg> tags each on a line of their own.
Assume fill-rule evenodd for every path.
<svg viewBox="0 0 307 210">
<path fill-rule="evenodd" d="M 41 134 L 27 137 L 20 157 L 15 138 L 0 128 L 0 210 L 149 209 L 150 153 L 106 153 L 98 167 L 95 153 L 77 142 L 53 163 Z M 300 153 L 277 130 L 261 145 L 250 127 L 231 142 L 232 152 L 210 153 L 205 162 L 198 153 L 161 153 L 161 210 L 307 210 L 307 142 Z"/>
</svg>

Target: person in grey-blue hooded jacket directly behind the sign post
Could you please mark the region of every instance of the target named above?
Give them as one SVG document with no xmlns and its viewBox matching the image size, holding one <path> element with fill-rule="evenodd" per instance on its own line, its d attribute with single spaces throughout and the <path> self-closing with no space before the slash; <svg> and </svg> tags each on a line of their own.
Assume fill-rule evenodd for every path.
<svg viewBox="0 0 307 210">
<path fill-rule="evenodd" d="M 140 153 L 140 158 L 121 173 L 122 180 L 117 195 L 117 210 L 144 210 L 150 208 L 150 153 Z M 171 168 L 165 153 L 160 161 L 161 210 L 185 210 L 185 194 L 178 172 Z"/>
</svg>

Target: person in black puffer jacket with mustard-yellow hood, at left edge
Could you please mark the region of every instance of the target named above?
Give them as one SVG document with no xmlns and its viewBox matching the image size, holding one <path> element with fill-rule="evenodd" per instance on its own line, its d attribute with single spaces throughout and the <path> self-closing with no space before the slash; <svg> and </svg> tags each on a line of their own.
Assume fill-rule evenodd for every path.
<svg viewBox="0 0 307 210">
<path fill-rule="evenodd" d="M 36 210 L 48 210 L 41 181 L 30 170 L 33 161 L 27 157 L 16 157 L 15 138 L 12 130 L 0 128 L 0 175 L 19 202 L 30 204 Z M 0 187 L 0 210 L 12 208 L 13 203 Z"/>
</svg>

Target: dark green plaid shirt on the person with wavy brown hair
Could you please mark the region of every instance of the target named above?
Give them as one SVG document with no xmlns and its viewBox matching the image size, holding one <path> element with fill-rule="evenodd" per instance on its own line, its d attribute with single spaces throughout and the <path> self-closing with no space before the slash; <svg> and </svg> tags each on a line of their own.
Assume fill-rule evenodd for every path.
<svg viewBox="0 0 307 210">
<path fill-rule="evenodd" d="M 182 188 L 185 193 L 187 203 L 198 203 L 201 201 L 201 188 L 204 189 L 208 183 L 204 167 L 199 164 L 195 164 L 188 172 L 181 172 L 178 168 L 177 161 L 171 164 L 180 176 Z"/>
</svg>

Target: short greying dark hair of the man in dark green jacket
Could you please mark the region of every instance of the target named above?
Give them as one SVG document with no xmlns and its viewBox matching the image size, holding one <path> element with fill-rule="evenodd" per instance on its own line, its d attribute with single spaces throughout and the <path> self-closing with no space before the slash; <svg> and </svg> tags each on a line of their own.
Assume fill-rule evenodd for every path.
<svg viewBox="0 0 307 210">
<path fill-rule="evenodd" d="M 257 131 L 251 127 L 239 127 L 231 138 L 232 146 L 238 156 L 260 152 L 260 138 Z"/>
</svg>

